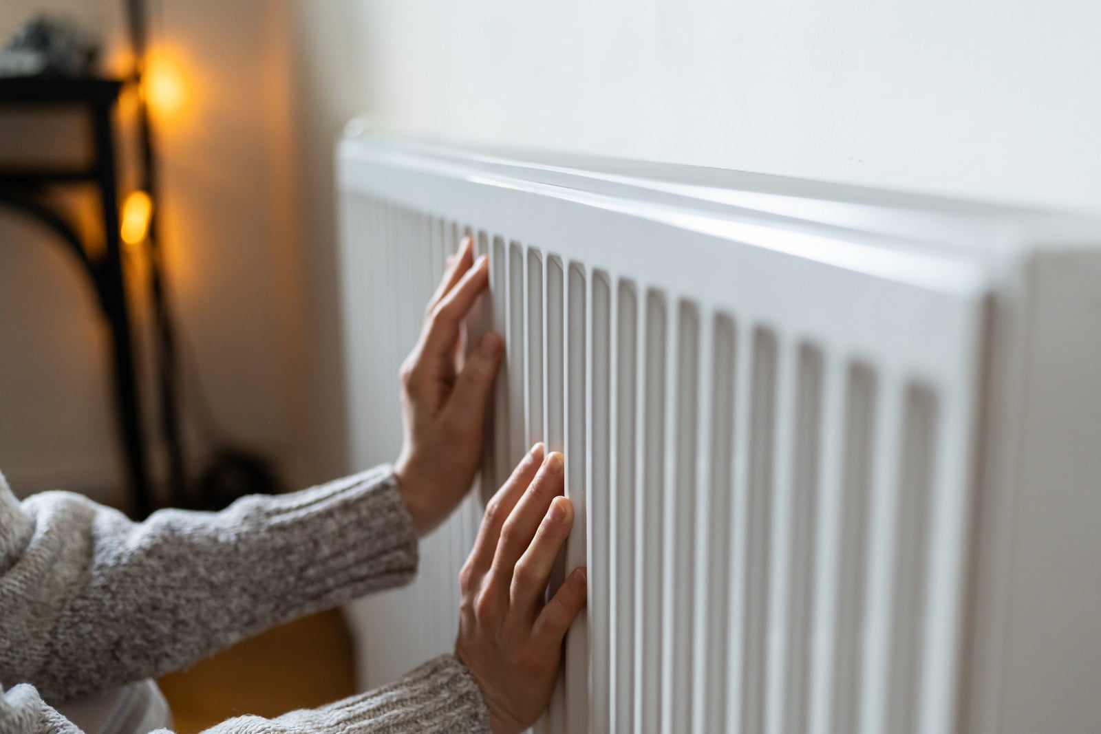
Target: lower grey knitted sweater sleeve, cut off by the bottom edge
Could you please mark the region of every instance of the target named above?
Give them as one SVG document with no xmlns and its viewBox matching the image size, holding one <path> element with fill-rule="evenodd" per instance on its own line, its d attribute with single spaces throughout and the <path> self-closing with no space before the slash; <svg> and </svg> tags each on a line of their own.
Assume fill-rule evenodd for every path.
<svg viewBox="0 0 1101 734">
<path fill-rule="evenodd" d="M 46 704 L 31 686 L 0 688 L 0 731 L 4 734 L 80 734 Z M 239 716 L 204 734 L 412 734 L 489 732 L 481 691 L 453 655 L 429 660 L 389 686 L 319 709 L 292 711 L 276 719 Z M 154 734 L 171 734 L 161 730 Z"/>
</svg>

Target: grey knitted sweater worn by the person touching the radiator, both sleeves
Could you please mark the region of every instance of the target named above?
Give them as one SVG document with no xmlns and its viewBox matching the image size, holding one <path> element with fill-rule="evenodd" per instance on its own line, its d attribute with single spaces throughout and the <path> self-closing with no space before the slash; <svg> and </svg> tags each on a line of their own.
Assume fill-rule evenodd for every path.
<svg viewBox="0 0 1101 734">
<path fill-rule="evenodd" d="M 389 467 L 144 523 L 67 492 L 20 503 L 0 475 L 0 734 L 78 732 L 54 705 L 407 583 L 416 565 Z M 320 709 L 209 731 L 479 732 L 489 712 L 470 672 L 445 655 Z"/>
</svg>

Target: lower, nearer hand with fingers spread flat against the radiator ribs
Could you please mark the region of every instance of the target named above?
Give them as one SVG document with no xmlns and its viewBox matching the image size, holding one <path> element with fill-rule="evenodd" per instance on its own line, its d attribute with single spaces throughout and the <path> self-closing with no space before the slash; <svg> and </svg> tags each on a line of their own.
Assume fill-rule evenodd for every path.
<svg viewBox="0 0 1101 734">
<path fill-rule="evenodd" d="M 544 604 L 555 557 L 574 524 L 574 506 L 562 491 L 562 454 L 544 461 L 536 445 L 486 506 L 459 572 L 455 655 L 478 681 L 495 734 L 522 732 L 546 709 L 563 638 L 585 605 L 584 568 Z"/>
</svg>

